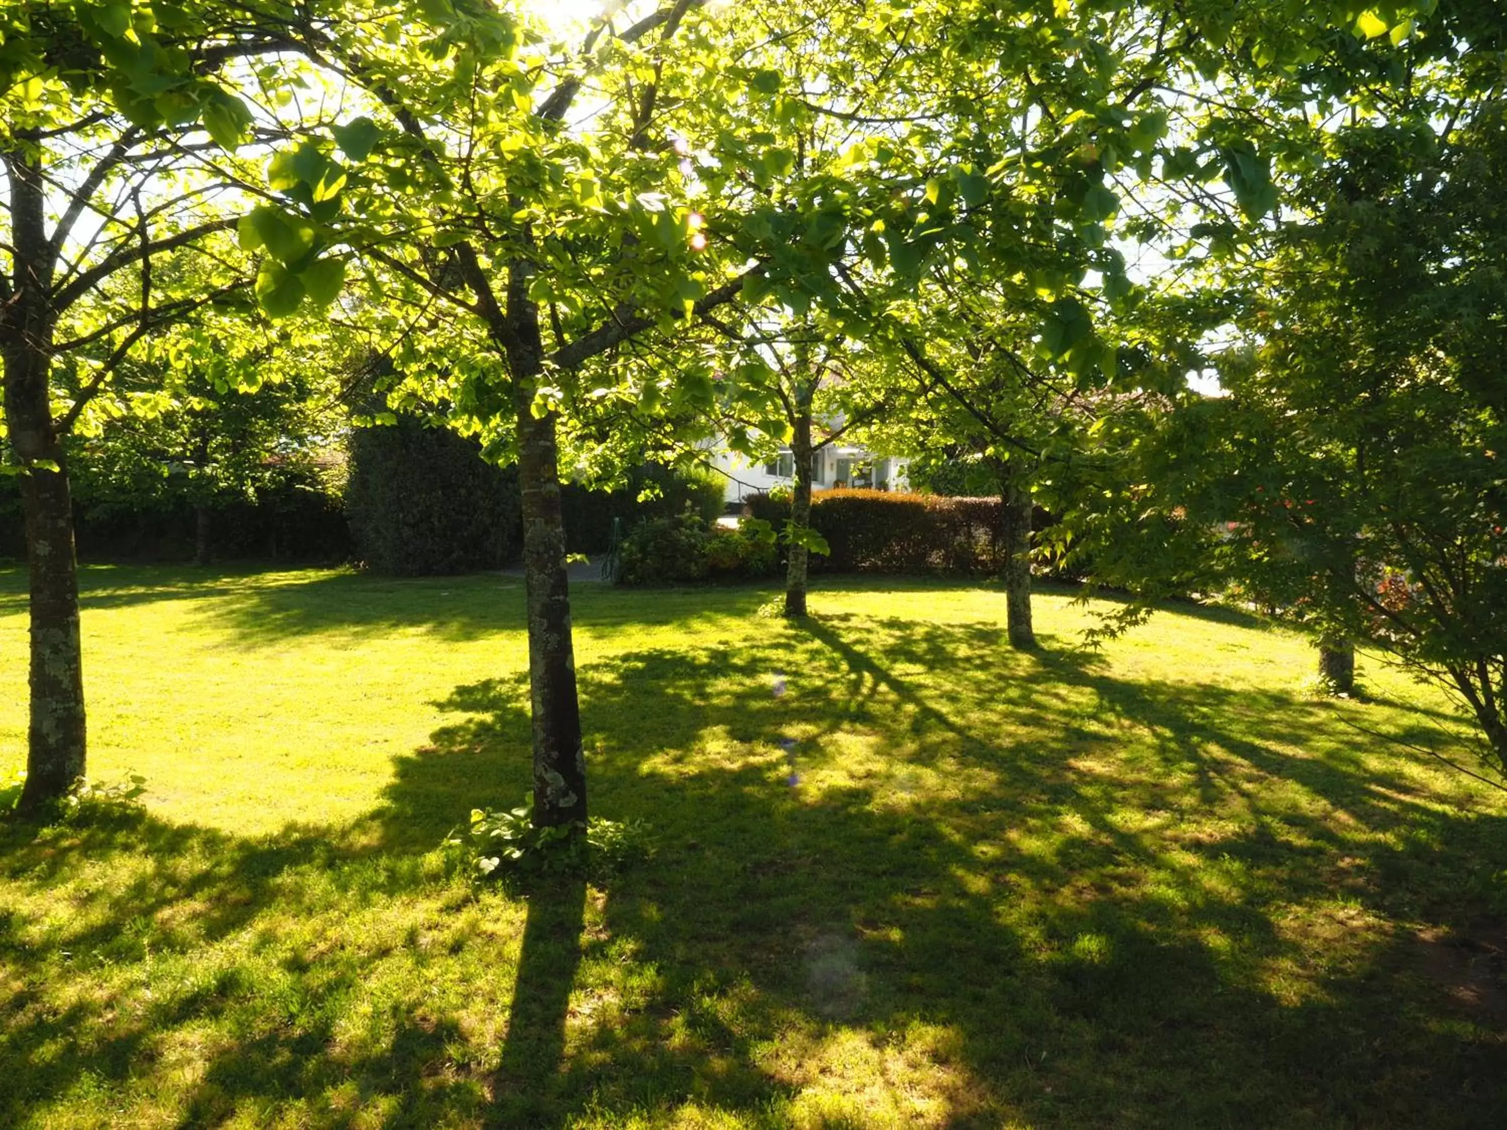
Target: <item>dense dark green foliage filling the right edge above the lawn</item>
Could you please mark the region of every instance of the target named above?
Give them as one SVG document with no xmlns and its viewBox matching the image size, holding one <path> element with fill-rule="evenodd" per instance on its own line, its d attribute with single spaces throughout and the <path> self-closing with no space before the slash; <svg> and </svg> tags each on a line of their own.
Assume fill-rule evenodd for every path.
<svg viewBox="0 0 1507 1130">
<path fill-rule="evenodd" d="M 1129 488 L 1105 490 L 1091 551 L 1386 649 L 1457 696 L 1499 773 L 1507 18 L 1439 20 L 1453 42 L 1373 48 L 1411 89 L 1291 130 L 1291 218 L 1212 276 L 1228 395 L 1112 432 Z"/>
</svg>

